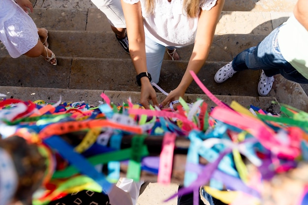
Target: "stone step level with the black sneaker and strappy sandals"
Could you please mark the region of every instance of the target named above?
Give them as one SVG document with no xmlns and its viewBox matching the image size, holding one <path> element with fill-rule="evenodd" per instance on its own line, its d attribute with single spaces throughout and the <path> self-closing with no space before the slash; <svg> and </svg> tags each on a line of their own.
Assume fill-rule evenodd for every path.
<svg viewBox="0 0 308 205">
<path fill-rule="evenodd" d="M 265 35 L 225 34 L 215 35 L 208 61 L 231 61 L 246 48 L 257 45 Z M 91 57 L 130 59 L 123 51 L 112 31 L 63 31 L 49 30 L 49 46 L 57 57 Z M 181 60 L 188 61 L 193 45 L 178 49 Z M 8 52 L 0 44 L 0 56 Z M 165 60 L 170 57 L 165 52 Z"/>
</svg>

